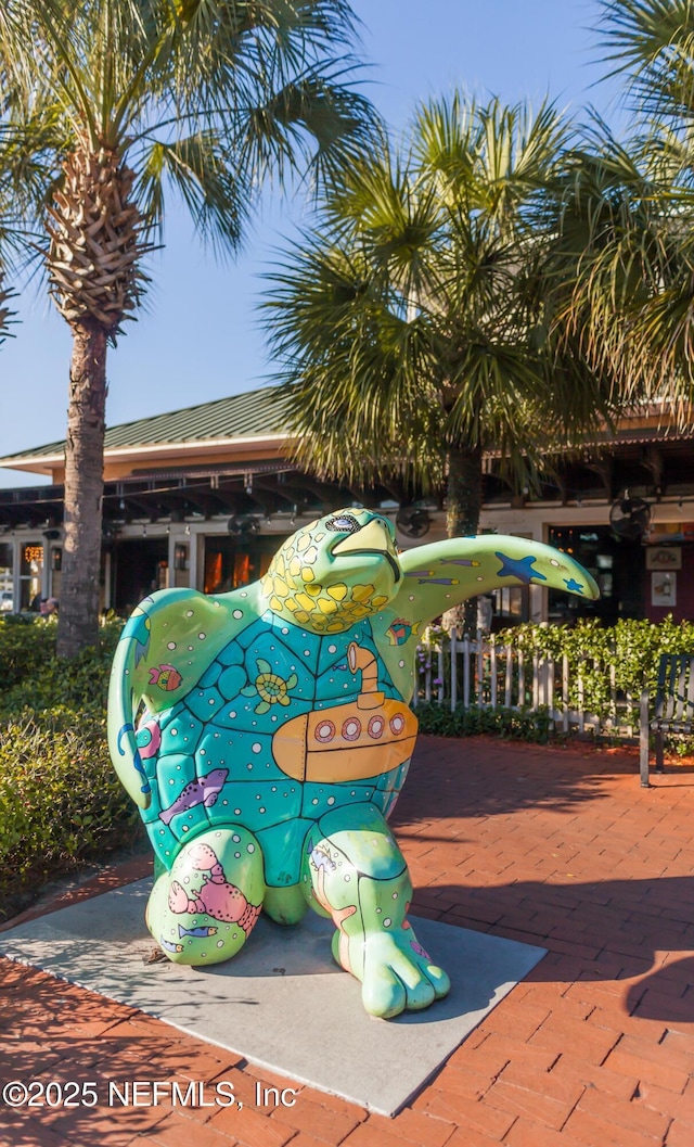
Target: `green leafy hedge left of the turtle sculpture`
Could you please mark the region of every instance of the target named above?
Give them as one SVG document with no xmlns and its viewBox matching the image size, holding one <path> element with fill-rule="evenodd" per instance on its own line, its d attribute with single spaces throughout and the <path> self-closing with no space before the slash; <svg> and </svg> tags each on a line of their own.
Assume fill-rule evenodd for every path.
<svg viewBox="0 0 694 1147">
<path fill-rule="evenodd" d="M 119 632 L 104 626 L 99 649 L 63 662 L 54 624 L 0 624 L 0 919 L 46 880 L 141 835 L 106 743 Z"/>
</svg>

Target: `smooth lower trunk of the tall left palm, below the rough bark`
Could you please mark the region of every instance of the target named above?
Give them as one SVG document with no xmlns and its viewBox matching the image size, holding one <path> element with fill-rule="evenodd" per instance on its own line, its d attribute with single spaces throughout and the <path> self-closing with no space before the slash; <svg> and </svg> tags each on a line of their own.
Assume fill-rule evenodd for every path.
<svg viewBox="0 0 694 1147">
<path fill-rule="evenodd" d="M 57 630 L 61 657 L 76 657 L 99 640 L 107 346 L 108 335 L 95 322 L 72 323 Z"/>
</svg>

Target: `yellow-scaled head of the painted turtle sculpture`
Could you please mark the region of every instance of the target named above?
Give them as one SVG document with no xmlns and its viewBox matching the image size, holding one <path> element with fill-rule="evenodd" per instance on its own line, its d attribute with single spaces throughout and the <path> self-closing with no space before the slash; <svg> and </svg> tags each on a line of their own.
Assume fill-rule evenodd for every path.
<svg viewBox="0 0 694 1147">
<path fill-rule="evenodd" d="M 344 509 L 293 533 L 262 586 L 278 617 L 312 633 L 344 633 L 388 606 L 401 580 L 392 523 Z"/>
</svg>

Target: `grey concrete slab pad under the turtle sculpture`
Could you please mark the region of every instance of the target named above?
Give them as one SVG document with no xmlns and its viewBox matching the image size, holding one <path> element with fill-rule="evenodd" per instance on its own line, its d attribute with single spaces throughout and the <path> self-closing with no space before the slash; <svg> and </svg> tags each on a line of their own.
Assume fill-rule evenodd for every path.
<svg viewBox="0 0 694 1147">
<path fill-rule="evenodd" d="M 451 993 L 424 1012 L 375 1020 L 361 1007 L 361 985 L 333 962 L 332 922 L 314 913 L 294 928 L 260 918 L 224 965 L 147 963 L 150 887 L 138 881 L 18 924 L 0 934 L 0 954 L 383 1115 L 420 1091 L 546 951 L 416 919 Z"/>
</svg>

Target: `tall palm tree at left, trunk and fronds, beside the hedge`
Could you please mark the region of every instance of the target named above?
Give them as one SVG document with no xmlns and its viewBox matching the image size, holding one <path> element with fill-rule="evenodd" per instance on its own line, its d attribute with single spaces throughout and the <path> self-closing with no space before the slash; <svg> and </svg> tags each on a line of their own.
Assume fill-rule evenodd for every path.
<svg viewBox="0 0 694 1147">
<path fill-rule="evenodd" d="M 98 638 L 107 350 L 177 193 L 237 250 L 265 177 L 320 178 L 369 135 L 345 0 L 5 0 L 2 167 L 72 333 L 59 651 Z M 341 55 L 342 53 L 342 55 Z"/>
</svg>

